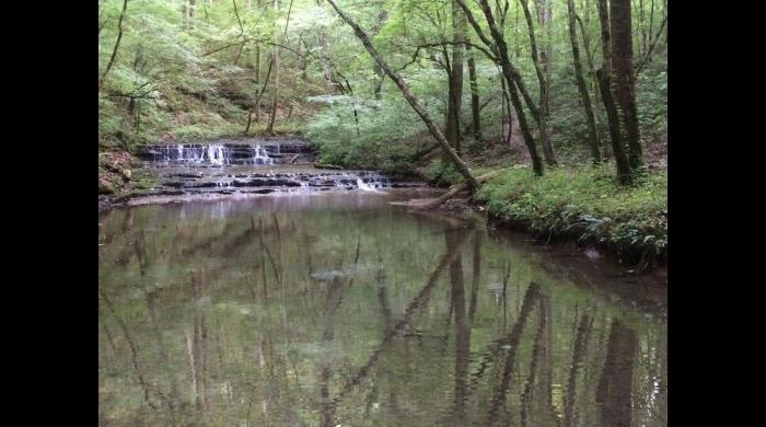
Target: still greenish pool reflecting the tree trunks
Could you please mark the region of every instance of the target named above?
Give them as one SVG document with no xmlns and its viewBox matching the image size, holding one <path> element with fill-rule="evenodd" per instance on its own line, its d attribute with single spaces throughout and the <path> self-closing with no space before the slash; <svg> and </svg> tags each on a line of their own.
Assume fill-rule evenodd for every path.
<svg viewBox="0 0 766 427">
<path fill-rule="evenodd" d="M 101 424 L 666 424 L 664 285 L 405 196 L 102 215 Z"/>
</svg>

